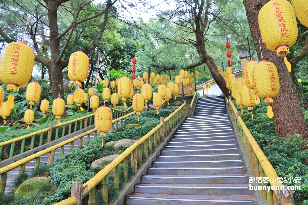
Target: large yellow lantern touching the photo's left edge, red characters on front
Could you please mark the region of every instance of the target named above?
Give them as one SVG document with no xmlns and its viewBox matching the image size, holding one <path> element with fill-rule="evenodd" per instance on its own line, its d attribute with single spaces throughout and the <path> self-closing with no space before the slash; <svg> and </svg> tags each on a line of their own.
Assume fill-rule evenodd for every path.
<svg viewBox="0 0 308 205">
<path fill-rule="evenodd" d="M 25 42 L 9 43 L 2 50 L 0 79 L 7 85 L 7 91 L 17 92 L 18 86 L 26 85 L 32 74 L 34 52 Z"/>
</svg>

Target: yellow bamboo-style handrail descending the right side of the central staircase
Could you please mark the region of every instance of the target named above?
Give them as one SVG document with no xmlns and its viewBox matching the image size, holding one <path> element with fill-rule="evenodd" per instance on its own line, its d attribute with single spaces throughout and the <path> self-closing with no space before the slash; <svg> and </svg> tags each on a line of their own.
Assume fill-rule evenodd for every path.
<svg viewBox="0 0 308 205">
<path fill-rule="evenodd" d="M 233 111 L 233 112 L 231 112 L 232 115 L 233 115 L 233 119 L 237 119 L 237 124 L 239 124 L 239 126 L 241 127 L 241 129 L 244 132 L 244 135 L 242 137 L 240 136 L 241 135 L 240 130 L 239 130 L 238 133 L 239 133 L 239 137 L 243 138 L 242 139 L 243 144 L 245 143 L 245 141 L 248 144 L 248 147 L 245 147 L 245 150 L 247 150 L 247 156 L 249 157 L 249 162 L 250 162 L 250 165 L 251 165 L 251 171 L 254 172 L 257 177 L 260 177 L 260 176 L 265 177 L 266 176 L 266 177 L 269 177 L 269 179 L 272 179 L 272 180 L 269 180 L 271 186 L 274 186 L 274 187 L 283 186 L 282 183 L 280 182 L 280 180 L 278 180 L 278 175 L 277 175 L 275 169 L 273 168 L 272 164 L 270 164 L 270 161 L 267 159 L 267 157 L 263 153 L 262 149 L 258 145 L 257 141 L 254 139 L 252 134 L 249 132 L 249 129 L 247 128 L 246 124 L 242 120 L 241 115 L 240 115 L 240 111 L 237 111 L 237 109 L 234 106 L 231 99 L 228 100 L 226 98 L 226 100 L 227 100 L 229 106 L 231 106 L 231 109 Z M 245 146 L 245 144 L 244 144 L 244 146 Z M 263 181 L 259 185 L 262 186 Z M 278 193 L 278 191 L 279 190 L 274 188 L 274 190 L 273 190 L 274 199 L 273 198 L 268 199 L 269 196 L 266 196 L 266 193 L 264 193 L 263 190 L 262 190 L 262 192 L 263 192 L 262 197 L 263 197 L 264 200 L 266 200 L 266 199 L 267 200 L 273 200 L 273 201 L 277 200 L 277 202 L 278 202 L 279 197 L 281 198 L 281 197 L 284 196 L 284 194 L 280 194 L 280 193 Z M 286 191 L 286 190 L 284 190 L 284 191 Z M 293 200 L 293 203 L 290 203 L 290 204 L 294 204 L 293 193 L 289 192 L 288 194 L 290 194 L 289 198 L 291 200 Z M 287 204 L 287 203 L 285 203 L 285 202 L 279 203 L 279 205 L 282 205 L 282 204 Z"/>
</svg>

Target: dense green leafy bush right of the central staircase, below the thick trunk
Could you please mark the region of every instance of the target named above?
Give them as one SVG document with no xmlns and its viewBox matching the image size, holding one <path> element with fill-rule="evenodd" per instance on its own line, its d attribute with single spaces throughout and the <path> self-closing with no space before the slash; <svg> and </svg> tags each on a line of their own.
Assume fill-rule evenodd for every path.
<svg viewBox="0 0 308 205">
<path fill-rule="evenodd" d="M 236 106 L 235 101 L 233 104 Z M 247 109 L 243 109 L 242 119 L 254 139 L 263 150 L 265 156 L 273 165 L 277 175 L 283 179 L 301 177 L 301 184 L 286 182 L 284 185 L 300 185 L 300 191 L 294 191 L 296 204 L 302 204 L 308 199 L 308 142 L 300 135 L 282 138 L 274 135 L 274 124 L 267 117 L 267 104 L 261 100 L 260 104 L 254 106 L 253 119 Z M 237 107 L 237 110 L 241 108 Z M 306 122 L 308 121 L 308 110 L 302 108 Z M 305 150 L 306 149 L 306 150 Z"/>
</svg>

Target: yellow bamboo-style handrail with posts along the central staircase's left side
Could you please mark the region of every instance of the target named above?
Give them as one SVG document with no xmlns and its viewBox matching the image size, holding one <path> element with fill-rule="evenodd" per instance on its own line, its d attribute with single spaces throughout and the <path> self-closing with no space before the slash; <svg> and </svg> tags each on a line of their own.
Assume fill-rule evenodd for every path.
<svg viewBox="0 0 308 205">
<path fill-rule="evenodd" d="M 184 109 L 185 105 L 186 105 L 186 108 Z M 138 148 L 139 156 L 136 156 L 137 154 L 133 154 L 133 156 L 131 155 L 131 159 L 134 158 L 134 157 L 138 157 L 138 159 L 142 161 L 142 155 L 143 155 L 142 144 L 143 143 L 145 144 L 144 153 L 147 156 L 148 153 L 146 153 L 146 150 L 148 149 L 149 144 L 151 144 L 152 140 L 153 140 L 153 138 L 151 138 L 151 136 L 152 135 L 155 136 L 155 133 L 157 132 L 157 134 L 156 134 L 157 141 L 160 142 L 160 137 L 164 136 L 165 133 L 168 132 L 168 130 L 171 130 L 172 127 L 176 126 L 175 121 L 179 122 L 179 120 L 182 119 L 182 117 L 185 116 L 185 114 L 187 113 L 187 107 L 188 107 L 188 105 L 186 103 L 184 103 L 179 108 L 177 108 L 174 112 L 172 112 L 168 117 L 166 117 L 163 121 L 162 121 L 163 117 L 161 117 L 160 118 L 160 124 L 158 124 L 150 132 L 148 132 L 146 135 L 144 135 L 139 140 L 137 140 L 134 144 L 132 144 L 129 148 L 127 148 L 124 152 L 122 152 L 122 154 L 120 154 L 113 161 L 111 161 L 111 163 L 109 163 L 105 168 L 103 168 L 101 171 L 99 171 L 89 181 L 87 181 L 84 184 L 82 184 L 82 183 L 80 184 L 79 182 L 76 182 L 76 183 L 79 183 L 79 186 L 82 186 L 81 193 L 76 193 L 75 195 L 72 195 L 68 199 L 64 199 L 64 200 L 60 201 L 59 203 L 55 203 L 55 205 L 75 205 L 75 204 L 78 203 L 78 200 L 82 200 L 89 192 L 90 192 L 89 200 L 93 197 L 94 197 L 94 200 L 95 200 L 95 186 L 98 183 L 100 183 L 102 180 L 103 180 L 103 184 L 104 184 L 104 182 L 106 184 L 109 183 L 109 182 L 107 182 L 107 180 L 109 180 L 109 173 L 113 169 L 115 169 L 115 181 L 117 181 L 119 179 L 119 176 L 116 175 L 116 173 L 119 171 L 119 170 L 117 171 L 117 169 L 119 168 L 119 165 L 120 165 L 121 162 L 124 162 L 124 177 L 125 177 L 125 183 L 127 183 L 128 182 L 128 177 L 127 177 L 128 176 L 127 175 L 128 156 L 133 154 L 133 152 L 136 153 L 136 150 Z M 154 144 L 155 144 L 155 138 L 154 138 Z M 141 154 L 140 154 L 140 151 L 141 151 Z M 140 157 L 141 157 L 141 159 L 140 159 Z M 132 164 L 132 161 L 135 161 L 135 160 L 132 159 L 131 164 Z M 134 166 L 136 166 L 134 168 L 137 169 L 137 164 L 135 164 Z M 127 169 L 125 170 L 125 168 L 127 168 Z M 73 184 L 74 184 L 74 182 L 73 182 Z M 80 189 L 81 189 L 81 187 L 80 187 Z M 92 190 L 94 190 L 94 193 L 93 193 Z M 76 197 L 77 195 L 78 195 L 78 197 Z M 106 193 L 106 191 L 103 191 L 103 200 L 106 200 L 106 197 L 107 197 L 107 201 L 108 201 L 108 191 L 107 191 L 107 193 Z M 79 199 L 77 199 L 77 198 L 79 198 Z"/>
</svg>

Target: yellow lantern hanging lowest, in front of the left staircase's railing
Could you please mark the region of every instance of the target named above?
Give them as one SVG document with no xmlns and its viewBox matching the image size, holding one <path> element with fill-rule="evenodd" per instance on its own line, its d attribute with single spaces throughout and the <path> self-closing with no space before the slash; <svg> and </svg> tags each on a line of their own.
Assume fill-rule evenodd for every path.
<svg viewBox="0 0 308 205">
<path fill-rule="evenodd" d="M 100 132 L 100 136 L 106 136 L 106 132 L 109 132 L 112 124 L 112 112 L 106 105 L 102 105 L 97 108 L 95 112 L 95 128 Z M 104 145 L 104 138 L 102 140 L 102 146 Z"/>
</svg>

